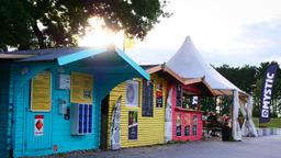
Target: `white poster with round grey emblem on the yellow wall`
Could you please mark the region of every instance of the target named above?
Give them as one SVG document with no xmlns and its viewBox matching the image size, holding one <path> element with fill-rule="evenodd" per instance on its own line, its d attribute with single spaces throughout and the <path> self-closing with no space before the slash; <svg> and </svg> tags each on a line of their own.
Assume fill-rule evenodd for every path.
<svg viewBox="0 0 281 158">
<path fill-rule="evenodd" d="M 138 81 L 126 81 L 126 106 L 138 106 Z"/>
</svg>

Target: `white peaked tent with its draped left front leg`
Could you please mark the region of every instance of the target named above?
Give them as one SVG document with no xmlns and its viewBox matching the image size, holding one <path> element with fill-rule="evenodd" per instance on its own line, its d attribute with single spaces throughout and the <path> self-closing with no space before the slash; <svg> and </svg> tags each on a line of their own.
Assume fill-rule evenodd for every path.
<svg viewBox="0 0 281 158">
<path fill-rule="evenodd" d="M 248 94 L 210 66 L 189 36 L 180 49 L 167 61 L 167 66 L 183 78 L 203 77 L 216 95 L 233 95 L 233 137 L 236 140 L 240 140 L 241 131 L 238 124 L 239 98 L 247 98 Z"/>
</svg>

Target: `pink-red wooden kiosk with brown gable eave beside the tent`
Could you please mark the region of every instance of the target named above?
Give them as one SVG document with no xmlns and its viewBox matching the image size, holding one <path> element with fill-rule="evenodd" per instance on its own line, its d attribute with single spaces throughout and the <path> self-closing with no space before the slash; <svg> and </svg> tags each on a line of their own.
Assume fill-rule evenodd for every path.
<svg viewBox="0 0 281 158">
<path fill-rule="evenodd" d="M 173 84 L 172 140 L 202 139 L 201 97 L 211 97 L 213 91 L 204 78 L 184 79 L 183 84 Z"/>
</svg>

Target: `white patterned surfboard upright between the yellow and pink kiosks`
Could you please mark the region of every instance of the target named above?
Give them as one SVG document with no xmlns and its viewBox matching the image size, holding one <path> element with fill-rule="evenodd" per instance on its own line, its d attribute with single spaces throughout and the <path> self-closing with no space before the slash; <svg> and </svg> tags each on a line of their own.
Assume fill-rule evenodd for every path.
<svg viewBox="0 0 281 158">
<path fill-rule="evenodd" d="M 165 140 L 170 142 L 172 138 L 172 128 L 171 128 L 171 99 L 172 99 L 172 88 L 169 90 L 166 105 L 166 115 L 165 115 Z"/>
</svg>

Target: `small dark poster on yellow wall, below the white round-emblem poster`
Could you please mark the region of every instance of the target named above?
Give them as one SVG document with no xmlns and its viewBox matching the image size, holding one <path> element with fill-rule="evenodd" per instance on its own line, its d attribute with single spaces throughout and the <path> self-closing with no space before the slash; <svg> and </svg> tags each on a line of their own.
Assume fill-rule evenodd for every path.
<svg viewBox="0 0 281 158">
<path fill-rule="evenodd" d="M 128 111 L 128 139 L 137 139 L 137 111 Z"/>
</svg>

